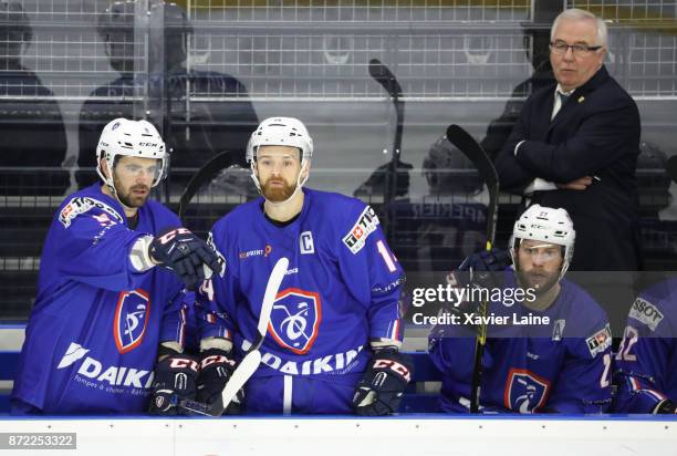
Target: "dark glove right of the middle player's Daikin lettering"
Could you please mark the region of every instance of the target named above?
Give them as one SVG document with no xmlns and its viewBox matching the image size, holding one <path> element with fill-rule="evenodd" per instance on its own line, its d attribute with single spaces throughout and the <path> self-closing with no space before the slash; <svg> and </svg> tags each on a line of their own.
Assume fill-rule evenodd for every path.
<svg viewBox="0 0 677 456">
<path fill-rule="evenodd" d="M 357 415 L 382 416 L 397 412 L 402 395 L 412 380 L 412 362 L 395 349 L 374 354 L 353 396 Z"/>
</svg>

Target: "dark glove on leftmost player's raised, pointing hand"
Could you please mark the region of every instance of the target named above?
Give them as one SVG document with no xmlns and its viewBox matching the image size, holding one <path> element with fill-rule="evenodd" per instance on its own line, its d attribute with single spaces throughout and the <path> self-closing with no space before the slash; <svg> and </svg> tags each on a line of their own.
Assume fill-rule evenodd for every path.
<svg viewBox="0 0 677 456">
<path fill-rule="evenodd" d="M 209 279 L 211 272 L 220 272 L 222 267 L 213 249 L 186 228 L 170 228 L 157 235 L 148 252 L 156 262 L 176 273 L 189 290 Z"/>
</svg>

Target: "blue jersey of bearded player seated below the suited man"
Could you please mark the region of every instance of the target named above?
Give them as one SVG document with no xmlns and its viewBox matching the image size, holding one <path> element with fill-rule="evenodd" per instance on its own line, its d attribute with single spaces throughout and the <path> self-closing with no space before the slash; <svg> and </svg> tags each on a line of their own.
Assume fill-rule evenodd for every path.
<svg viewBox="0 0 677 456">
<path fill-rule="evenodd" d="M 504 280 L 504 289 L 515 287 L 511 268 Z M 598 413 L 611 404 L 612 336 L 606 314 L 580 287 L 567 280 L 561 286 L 544 311 L 521 303 L 489 303 L 489 314 L 508 320 L 496 318 L 497 323 L 488 327 L 480 412 Z M 442 410 L 468 412 L 475 327 L 435 327 L 429 352 L 444 374 Z"/>
</svg>

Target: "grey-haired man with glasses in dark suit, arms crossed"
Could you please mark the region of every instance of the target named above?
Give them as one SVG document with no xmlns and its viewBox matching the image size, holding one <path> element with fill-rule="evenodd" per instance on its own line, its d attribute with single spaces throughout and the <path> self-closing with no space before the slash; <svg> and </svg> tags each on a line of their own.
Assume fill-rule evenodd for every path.
<svg viewBox="0 0 677 456">
<path fill-rule="evenodd" d="M 633 271 L 640 265 L 639 112 L 604 68 L 606 35 L 587 11 L 555 19 L 550 62 L 558 83 L 527 100 L 496 167 L 503 189 L 569 211 L 577 231 L 573 270 Z"/>
</svg>

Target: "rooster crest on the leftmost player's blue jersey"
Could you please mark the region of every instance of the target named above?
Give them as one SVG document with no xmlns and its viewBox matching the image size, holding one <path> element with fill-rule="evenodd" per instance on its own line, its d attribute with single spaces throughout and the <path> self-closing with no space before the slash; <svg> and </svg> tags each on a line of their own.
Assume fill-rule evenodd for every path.
<svg viewBox="0 0 677 456">
<path fill-rule="evenodd" d="M 123 291 L 117 299 L 113 336 L 119 353 L 140 345 L 150 314 L 150 297 L 144 290 Z"/>
</svg>

